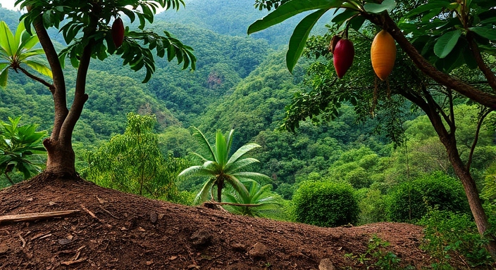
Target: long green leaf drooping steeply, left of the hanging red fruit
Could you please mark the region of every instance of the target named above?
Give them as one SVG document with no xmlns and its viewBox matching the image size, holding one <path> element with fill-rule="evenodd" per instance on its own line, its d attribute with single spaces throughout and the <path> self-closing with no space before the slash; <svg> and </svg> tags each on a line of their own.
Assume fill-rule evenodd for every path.
<svg viewBox="0 0 496 270">
<path fill-rule="evenodd" d="M 292 72 L 294 65 L 296 65 L 299 56 L 302 56 L 306 39 L 308 39 L 312 28 L 314 28 L 317 20 L 321 18 L 326 11 L 328 11 L 326 8 L 322 8 L 321 10 L 311 13 L 294 28 L 294 32 L 290 38 L 289 49 L 287 49 L 286 53 L 286 65 L 290 72 Z"/>
</svg>

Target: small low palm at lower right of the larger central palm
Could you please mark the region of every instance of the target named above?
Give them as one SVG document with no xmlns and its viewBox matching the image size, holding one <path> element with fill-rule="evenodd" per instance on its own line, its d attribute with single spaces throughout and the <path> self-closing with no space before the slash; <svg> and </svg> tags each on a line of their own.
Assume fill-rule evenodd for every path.
<svg viewBox="0 0 496 270">
<path fill-rule="evenodd" d="M 282 198 L 271 192 L 272 185 L 261 184 L 256 181 L 243 181 L 248 190 L 248 196 L 242 193 L 224 193 L 226 209 L 235 214 L 250 217 L 274 217 L 280 218 Z"/>
</svg>

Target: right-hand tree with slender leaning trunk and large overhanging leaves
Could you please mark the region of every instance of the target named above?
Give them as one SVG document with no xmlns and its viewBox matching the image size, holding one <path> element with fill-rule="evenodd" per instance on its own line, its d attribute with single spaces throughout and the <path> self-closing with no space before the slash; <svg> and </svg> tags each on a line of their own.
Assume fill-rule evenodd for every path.
<svg viewBox="0 0 496 270">
<path fill-rule="evenodd" d="M 481 104 L 479 122 L 496 109 L 494 1 L 256 0 L 256 5 L 276 9 L 250 25 L 248 33 L 266 29 L 304 11 L 314 11 L 306 15 L 294 29 L 286 58 L 289 70 L 294 68 L 302 55 L 316 21 L 329 10 L 342 11 L 333 18 L 333 23 L 343 30 L 345 37 L 348 37 L 348 30 L 359 31 L 366 21 L 390 34 L 413 63 L 411 67 L 402 65 L 402 72 L 411 78 L 413 84 L 401 82 L 391 91 L 415 103 L 428 115 L 447 150 L 454 172 L 464 185 L 478 231 L 481 236 L 485 236 L 489 226 L 488 217 L 470 173 L 472 154 L 466 162 L 460 158 L 452 108 L 459 96 Z M 471 78 L 455 75 L 454 71 L 462 66 L 478 69 L 483 81 L 472 84 Z M 345 79 L 350 81 L 350 78 Z M 335 82 L 337 79 L 327 79 L 326 83 L 316 86 L 319 91 L 314 91 L 314 95 L 295 98 L 287 117 L 287 127 L 294 129 L 299 120 L 314 117 L 323 111 L 332 116 L 341 101 L 348 100 L 354 104 L 363 102 L 357 99 L 358 94 L 349 91 L 342 96 L 333 95 Z M 360 81 L 353 79 L 348 83 L 360 84 Z M 377 89 L 374 86 L 369 93 L 377 93 Z M 377 96 L 371 94 L 369 98 L 375 103 Z M 473 147 L 477 142 L 478 130 L 475 133 Z M 488 250 L 496 259 L 496 239 L 489 236 L 488 240 Z"/>
</svg>

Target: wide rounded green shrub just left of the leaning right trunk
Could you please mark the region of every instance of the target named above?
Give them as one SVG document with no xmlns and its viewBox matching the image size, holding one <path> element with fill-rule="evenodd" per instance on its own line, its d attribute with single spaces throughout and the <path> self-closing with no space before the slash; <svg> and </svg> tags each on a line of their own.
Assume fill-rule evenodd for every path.
<svg viewBox="0 0 496 270">
<path fill-rule="evenodd" d="M 460 181 L 435 172 L 397 186 L 387 200 L 387 217 L 391 221 L 419 221 L 427 207 L 469 213 L 469 203 Z"/>
</svg>

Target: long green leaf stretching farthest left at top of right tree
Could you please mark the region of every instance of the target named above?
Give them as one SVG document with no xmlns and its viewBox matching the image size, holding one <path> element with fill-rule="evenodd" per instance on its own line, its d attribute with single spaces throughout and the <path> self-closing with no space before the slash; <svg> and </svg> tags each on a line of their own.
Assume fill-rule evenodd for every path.
<svg viewBox="0 0 496 270">
<path fill-rule="evenodd" d="M 273 12 L 269 13 L 260 20 L 256 20 L 248 27 L 248 34 L 259 32 L 273 25 L 283 22 L 294 15 L 304 11 L 313 11 L 315 9 L 337 8 L 342 5 L 342 0 L 291 0 L 279 6 Z"/>
</svg>

